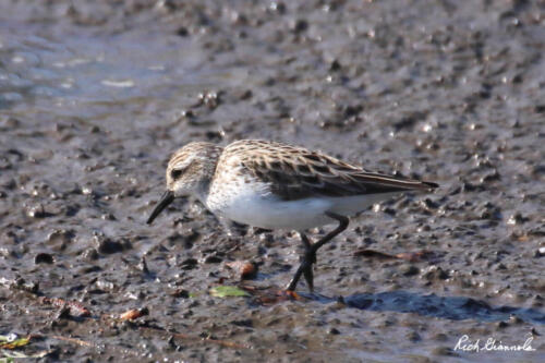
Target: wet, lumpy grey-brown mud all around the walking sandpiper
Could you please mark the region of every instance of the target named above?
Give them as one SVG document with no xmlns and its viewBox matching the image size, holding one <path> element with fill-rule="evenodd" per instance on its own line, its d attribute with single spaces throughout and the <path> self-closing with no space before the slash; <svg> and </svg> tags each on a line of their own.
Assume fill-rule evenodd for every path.
<svg viewBox="0 0 545 363">
<path fill-rule="evenodd" d="M 514 0 L 2 1 L 0 335 L 51 362 L 544 362 L 544 25 Z M 295 233 L 193 201 L 145 225 L 171 152 L 240 138 L 440 189 L 352 218 L 315 294 L 264 303 Z M 240 259 L 253 295 L 210 295 Z"/>
</svg>

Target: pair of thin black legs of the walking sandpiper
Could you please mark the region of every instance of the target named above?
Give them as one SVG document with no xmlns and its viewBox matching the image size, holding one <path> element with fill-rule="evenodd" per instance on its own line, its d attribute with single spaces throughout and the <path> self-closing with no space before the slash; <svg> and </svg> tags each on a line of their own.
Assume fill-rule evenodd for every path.
<svg viewBox="0 0 545 363">
<path fill-rule="evenodd" d="M 343 230 L 347 229 L 349 219 L 344 216 L 340 216 L 338 214 L 331 213 L 331 211 L 326 211 L 326 215 L 330 218 L 334 218 L 339 221 L 339 226 L 331 232 L 327 233 L 324 235 L 322 240 L 319 240 L 316 243 L 311 243 L 308 239 L 306 238 L 305 234 L 301 234 L 301 240 L 303 241 L 303 245 L 305 247 L 305 252 L 303 255 L 303 258 L 301 261 L 301 265 L 299 265 L 298 270 L 295 271 L 295 275 L 293 275 L 293 278 L 290 281 L 290 285 L 288 286 L 288 291 L 294 291 L 299 279 L 301 278 L 301 275 L 304 275 L 306 283 L 308 285 L 308 289 L 311 292 L 314 290 L 314 275 L 312 271 L 312 265 L 316 263 L 316 252 L 322 247 L 324 244 L 327 242 L 331 241 L 337 234 L 341 233 Z"/>
</svg>

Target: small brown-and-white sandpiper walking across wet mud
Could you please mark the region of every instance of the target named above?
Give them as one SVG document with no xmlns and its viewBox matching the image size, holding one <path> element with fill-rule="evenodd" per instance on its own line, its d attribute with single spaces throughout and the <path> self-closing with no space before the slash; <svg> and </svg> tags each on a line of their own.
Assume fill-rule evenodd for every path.
<svg viewBox="0 0 545 363">
<path fill-rule="evenodd" d="M 177 197 L 194 196 L 214 213 L 262 229 L 296 230 L 304 254 L 287 287 L 304 276 L 314 289 L 316 252 L 347 229 L 349 216 L 407 191 L 432 191 L 436 183 L 365 171 L 302 147 L 241 140 L 226 147 L 205 142 L 177 150 L 167 167 L 167 191 L 147 223 Z M 305 230 L 338 222 L 316 242 Z"/>
</svg>

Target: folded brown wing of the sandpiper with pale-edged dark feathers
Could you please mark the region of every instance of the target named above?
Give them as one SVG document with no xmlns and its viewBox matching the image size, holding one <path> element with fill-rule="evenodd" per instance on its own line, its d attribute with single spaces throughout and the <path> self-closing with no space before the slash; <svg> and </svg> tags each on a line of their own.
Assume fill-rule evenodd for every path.
<svg viewBox="0 0 545 363">
<path fill-rule="evenodd" d="M 241 167 L 283 201 L 315 195 L 364 194 L 431 190 L 437 184 L 367 172 L 334 157 L 284 144 L 255 141 L 241 158 Z M 246 143 L 246 146 L 247 143 Z"/>
</svg>

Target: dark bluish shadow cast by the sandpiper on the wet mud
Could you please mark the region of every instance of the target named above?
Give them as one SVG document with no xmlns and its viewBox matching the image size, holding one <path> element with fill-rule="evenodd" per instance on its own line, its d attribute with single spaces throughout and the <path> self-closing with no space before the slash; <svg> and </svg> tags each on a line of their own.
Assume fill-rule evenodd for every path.
<svg viewBox="0 0 545 363">
<path fill-rule="evenodd" d="M 492 306 L 488 303 L 465 297 L 422 295 L 398 290 L 379 293 L 355 293 L 337 299 L 320 294 L 303 297 L 322 303 L 339 301 L 347 306 L 377 312 L 414 313 L 450 320 L 474 319 L 479 322 L 505 322 L 517 316 L 523 322 L 545 325 L 545 313 L 526 307 Z"/>
</svg>

